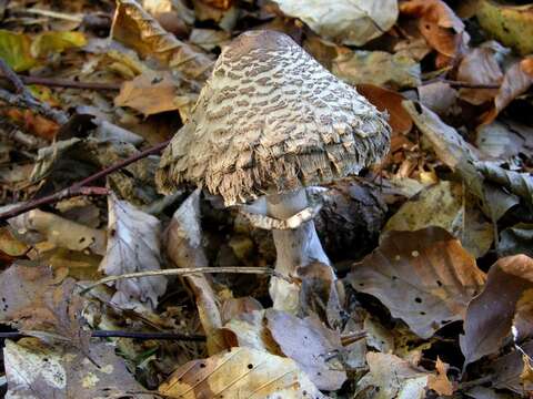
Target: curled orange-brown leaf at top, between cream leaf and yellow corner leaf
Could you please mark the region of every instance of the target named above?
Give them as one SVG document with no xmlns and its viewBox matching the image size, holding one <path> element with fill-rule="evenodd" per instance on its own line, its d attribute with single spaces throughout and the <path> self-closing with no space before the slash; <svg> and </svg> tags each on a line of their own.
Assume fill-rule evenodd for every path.
<svg viewBox="0 0 533 399">
<path fill-rule="evenodd" d="M 467 40 L 463 22 L 442 0 L 410 0 L 400 4 L 400 11 L 420 18 L 420 31 L 442 55 L 454 58 Z"/>
</svg>

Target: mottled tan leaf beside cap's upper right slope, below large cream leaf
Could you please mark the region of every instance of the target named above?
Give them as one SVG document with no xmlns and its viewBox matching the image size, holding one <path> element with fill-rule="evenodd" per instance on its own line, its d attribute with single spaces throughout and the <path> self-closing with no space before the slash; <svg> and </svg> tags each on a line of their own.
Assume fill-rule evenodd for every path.
<svg viewBox="0 0 533 399">
<path fill-rule="evenodd" d="M 402 54 L 384 51 L 344 51 L 332 61 L 332 72 L 343 81 L 391 89 L 421 84 L 420 64 Z"/>
</svg>

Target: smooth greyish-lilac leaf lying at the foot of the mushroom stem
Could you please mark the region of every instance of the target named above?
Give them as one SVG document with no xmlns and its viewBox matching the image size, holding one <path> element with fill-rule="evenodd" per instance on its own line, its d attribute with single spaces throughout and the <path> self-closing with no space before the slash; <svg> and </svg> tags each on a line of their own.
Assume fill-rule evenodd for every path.
<svg viewBox="0 0 533 399">
<path fill-rule="evenodd" d="M 281 351 L 296 361 L 319 389 L 336 390 L 346 380 L 339 360 L 329 360 L 342 348 L 339 332 L 318 318 L 300 319 L 274 309 L 265 313 L 268 328 Z"/>
</svg>

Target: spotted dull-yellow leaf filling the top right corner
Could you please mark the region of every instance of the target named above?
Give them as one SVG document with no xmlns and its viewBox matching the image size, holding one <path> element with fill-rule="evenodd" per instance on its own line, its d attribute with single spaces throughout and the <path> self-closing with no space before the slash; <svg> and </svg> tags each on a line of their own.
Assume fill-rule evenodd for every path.
<svg viewBox="0 0 533 399">
<path fill-rule="evenodd" d="M 533 52 L 533 7 L 482 0 L 477 7 L 481 28 L 521 54 Z"/>
</svg>

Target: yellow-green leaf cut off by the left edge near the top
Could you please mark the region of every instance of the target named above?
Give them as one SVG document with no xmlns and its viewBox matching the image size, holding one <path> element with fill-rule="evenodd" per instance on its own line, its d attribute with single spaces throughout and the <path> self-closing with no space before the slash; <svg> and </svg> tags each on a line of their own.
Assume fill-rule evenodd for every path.
<svg viewBox="0 0 533 399">
<path fill-rule="evenodd" d="M 0 58 L 16 72 L 27 71 L 37 61 L 30 53 L 31 40 L 23 33 L 0 29 Z"/>
</svg>

